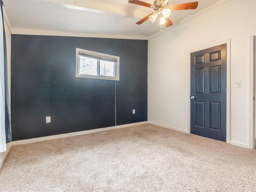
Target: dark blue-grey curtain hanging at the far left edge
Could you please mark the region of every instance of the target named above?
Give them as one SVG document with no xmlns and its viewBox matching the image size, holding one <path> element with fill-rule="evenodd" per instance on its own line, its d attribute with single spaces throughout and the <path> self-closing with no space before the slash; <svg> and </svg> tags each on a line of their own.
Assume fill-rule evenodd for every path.
<svg viewBox="0 0 256 192">
<path fill-rule="evenodd" d="M 11 114 L 10 114 L 10 96 L 8 86 L 8 64 L 7 64 L 7 50 L 6 50 L 6 38 L 4 30 L 4 14 L 3 14 L 3 1 L 0 0 L 2 10 L 2 22 L 4 32 L 4 94 L 5 94 L 5 134 L 6 143 L 12 141 L 12 130 L 11 130 Z"/>
</svg>

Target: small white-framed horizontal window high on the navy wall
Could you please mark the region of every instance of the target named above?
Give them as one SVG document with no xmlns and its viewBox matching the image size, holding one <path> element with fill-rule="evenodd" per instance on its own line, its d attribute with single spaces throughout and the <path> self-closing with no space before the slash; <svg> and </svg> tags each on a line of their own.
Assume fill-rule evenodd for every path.
<svg viewBox="0 0 256 192">
<path fill-rule="evenodd" d="M 119 81 L 119 57 L 76 48 L 76 77 Z"/>
</svg>

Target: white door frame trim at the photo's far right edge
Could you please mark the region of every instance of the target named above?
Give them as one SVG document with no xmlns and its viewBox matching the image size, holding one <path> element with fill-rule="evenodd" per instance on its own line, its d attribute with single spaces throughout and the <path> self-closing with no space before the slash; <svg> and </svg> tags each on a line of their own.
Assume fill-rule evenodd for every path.
<svg viewBox="0 0 256 192">
<path fill-rule="evenodd" d="M 255 135 L 254 135 L 254 36 L 256 32 L 249 34 L 249 148 L 255 148 Z"/>
</svg>

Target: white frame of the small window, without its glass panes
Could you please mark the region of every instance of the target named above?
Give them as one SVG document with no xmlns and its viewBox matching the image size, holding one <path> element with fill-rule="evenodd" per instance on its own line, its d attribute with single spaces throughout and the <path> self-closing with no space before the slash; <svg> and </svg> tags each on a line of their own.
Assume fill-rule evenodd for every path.
<svg viewBox="0 0 256 192">
<path fill-rule="evenodd" d="M 79 73 L 79 69 L 80 69 L 79 54 L 84 54 L 84 55 L 88 55 L 88 56 L 97 58 L 97 75 L 80 74 Z M 113 60 L 113 61 L 116 60 L 116 63 L 114 64 L 114 74 L 115 74 L 114 77 L 100 75 L 100 59 L 102 59 L 102 60 L 109 59 L 109 60 Z M 76 48 L 76 77 L 119 81 L 119 60 L 120 60 L 120 58 L 118 56 Z"/>
</svg>

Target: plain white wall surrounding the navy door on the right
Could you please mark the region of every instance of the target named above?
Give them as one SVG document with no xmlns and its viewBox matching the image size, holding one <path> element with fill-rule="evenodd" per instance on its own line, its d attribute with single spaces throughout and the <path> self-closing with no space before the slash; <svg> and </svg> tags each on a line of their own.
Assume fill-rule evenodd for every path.
<svg viewBox="0 0 256 192">
<path fill-rule="evenodd" d="M 230 0 L 148 42 L 148 121 L 188 132 L 189 53 L 231 40 L 230 142 L 248 146 L 249 34 L 256 1 Z M 241 81 L 240 88 L 234 82 Z"/>
</svg>

